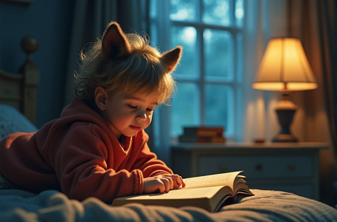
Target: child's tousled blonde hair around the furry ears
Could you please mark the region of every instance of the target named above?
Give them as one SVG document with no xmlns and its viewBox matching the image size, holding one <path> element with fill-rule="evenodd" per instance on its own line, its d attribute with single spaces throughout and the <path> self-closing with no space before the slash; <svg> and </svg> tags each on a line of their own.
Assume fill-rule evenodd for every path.
<svg viewBox="0 0 337 222">
<path fill-rule="evenodd" d="M 169 105 L 176 92 L 176 82 L 161 54 L 139 34 L 126 34 L 131 52 L 115 58 L 102 54 L 102 39 L 81 51 L 79 71 L 74 74 L 74 96 L 81 100 L 94 99 L 95 89 L 103 87 L 109 93 L 155 95 L 160 104 Z"/>
</svg>

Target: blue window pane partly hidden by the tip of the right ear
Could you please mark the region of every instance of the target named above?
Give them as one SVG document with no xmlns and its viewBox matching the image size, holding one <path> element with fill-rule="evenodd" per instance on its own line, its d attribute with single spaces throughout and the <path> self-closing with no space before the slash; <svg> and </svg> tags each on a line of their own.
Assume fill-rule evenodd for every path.
<svg viewBox="0 0 337 222">
<path fill-rule="evenodd" d="M 177 65 L 175 73 L 181 75 L 194 75 L 199 73 L 196 57 L 196 38 L 197 30 L 191 26 L 172 26 L 171 27 L 171 49 L 181 45 L 183 56 L 180 65 Z"/>
</svg>

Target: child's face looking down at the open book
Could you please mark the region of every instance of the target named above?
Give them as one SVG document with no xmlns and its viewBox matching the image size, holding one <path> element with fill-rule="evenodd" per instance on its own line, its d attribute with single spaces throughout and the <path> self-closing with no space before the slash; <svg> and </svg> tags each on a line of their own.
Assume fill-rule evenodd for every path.
<svg viewBox="0 0 337 222">
<path fill-rule="evenodd" d="M 150 125 L 157 106 L 158 98 L 152 95 L 139 97 L 116 93 L 106 100 L 104 118 L 117 138 L 121 135 L 132 137 Z"/>
</svg>

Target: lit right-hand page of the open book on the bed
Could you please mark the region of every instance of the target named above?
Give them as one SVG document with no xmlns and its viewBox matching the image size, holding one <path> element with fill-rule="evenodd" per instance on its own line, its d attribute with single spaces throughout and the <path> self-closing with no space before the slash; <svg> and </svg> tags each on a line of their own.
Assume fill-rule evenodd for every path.
<svg viewBox="0 0 337 222">
<path fill-rule="evenodd" d="M 229 186 L 232 190 L 234 184 L 237 182 L 237 175 L 242 171 L 235 171 L 235 172 L 226 172 L 214 175 L 207 175 L 207 176 L 197 176 L 191 178 L 184 178 L 182 179 L 186 187 L 180 189 L 192 189 L 198 187 L 210 187 L 210 186 Z M 241 178 L 241 177 L 239 177 Z"/>
</svg>

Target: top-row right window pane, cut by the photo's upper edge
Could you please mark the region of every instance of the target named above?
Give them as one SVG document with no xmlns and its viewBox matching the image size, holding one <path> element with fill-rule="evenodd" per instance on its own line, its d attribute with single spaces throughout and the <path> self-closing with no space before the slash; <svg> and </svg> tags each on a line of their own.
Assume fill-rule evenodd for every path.
<svg viewBox="0 0 337 222">
<path fill-rule="evenodd" d="M 206 24 L 230 24 L 229 0 L 203 0 L 202 21 Z"/>
</svg>

